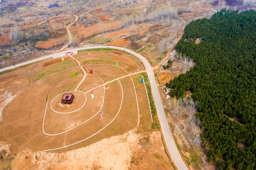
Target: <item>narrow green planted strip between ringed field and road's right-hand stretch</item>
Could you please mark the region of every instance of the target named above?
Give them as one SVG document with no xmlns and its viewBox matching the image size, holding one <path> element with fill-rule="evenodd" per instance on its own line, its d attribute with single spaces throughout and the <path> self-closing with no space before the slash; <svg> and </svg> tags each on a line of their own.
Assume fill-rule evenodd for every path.
<svg viewBox="0 0 256 170">
<path fill-rule="evenodd" d="M 151 92 L 151 86 L 149 84 L 149 77 L 147 76 L 146 73 L 142 73 L 141 75 L 143 75 L 143 77 L 144 77 L 144 82 L 146 84 L 146 91 L 147 91 L 148 96 L 149 96 L 149 104 L 150 104 L 152 118 L 153 118 L 153 123 L 151 124 L 151 128 L 155 129 L 155 130 L 159 130 L 160 129 L 160 123 L 159 123 L 159 120 L 158 120 L 157 115 L 156 115 L 156 107 L 154 105 L 154 98 L 153 98 L 153 95 L 152 95 L 152 92 Z"/>
</svg>

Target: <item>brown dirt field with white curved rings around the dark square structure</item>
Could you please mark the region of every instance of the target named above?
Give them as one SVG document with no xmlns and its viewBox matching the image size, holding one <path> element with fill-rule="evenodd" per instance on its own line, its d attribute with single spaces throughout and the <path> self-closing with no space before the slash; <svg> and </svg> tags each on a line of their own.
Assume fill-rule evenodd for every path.
<svg viewBox="0 0 256 170">
<path fill-rule="evenodd" d="M 114 54 L 117 53 L 117 54 Z M 122 52 L 106 52 L 107 54 L 114 54 L 117 56 L 129 56 Z M 100 52 L 98 52 L 100 53 Z M 103 55 L 103 52 L 102 52 Z M 99 58 L 102 58 L 102 55 L 99 56 Z M 129 56 L 130 57 L 130 56 Z M 113 56 L 108 57 L 110 60 L 113 60 Z M 117 58 L 118 57 L 114 57 Z M 122 59 L 122 58 L 121 58 Z M 133 60 L 136 61 L 136 59 L 133 58 Z M 58 60 L 57 60 L 58 62 Z M 127 60 L 122 59 L 120 60 L 119 64 L 121 65 L 122 62 L 124 64 L 127 64 L 129 66 L 129 62 Z M 127 63 L 125 63 L 127 62 Z M 138 62 L 138 60 L 137 60 Z M 74 130 L 70 130 L 69 132 L 66 132 L 63 135 L 58 136 L 46 136 L 43 135 L 42 131 L 42 125 L 43 125 L 43 115 L 46 107 L 46 98 L 48 96 L 48 92 L 50 89 L 55 85 L 58 84 L 58 82 L 63 81 L 65 79 L 68 79 L 70 74 L 73 74 L 74 72 L 79 72 L 80 69 L 74 68 L 70 70 L 66 70 L 65 72 L 61 72 L 59 74 L 55 74 L 51 77 L 48 77 L 46 79 L 43 79 L 41 81 L 38 81 L 37 84 L 33 84 L 38 74 L 41 74 L 43 72 L 47 72 L 51 69 L 60 69 L 59 67 L 63 67 L 63 64 L 55 63 L 55 60 L 53 62 L 45 62 L 50 65 L 48 67 L 43 67 L 44 63 L 36 63 L 35 66 L 36 70 L 33 70 L 31 68 L 26 69 L 22 71 L 22 69 L 9 73 L 14 74 L 18 73 L 19 76 L 22 77 L 22 75 L 26 75 L 18 81 L 26 81 L 23 83 L 22 86 L 26 86 L 25 89 L 23 89 L 22 93 L 18 94 L 16 98 L 14 98 L 9 105 L 7 105 L 4 108 L 3 115 L 4 120 L 0 123 L 0 139 L 6 143 L 11 143 L 11 152 L 19 152 L 23 148 L 29 148 L 32 151 L 38 151 L 43 149 L 52 149 L 55 147 L 63 147 L 65 145 L 70 145 L 74 142 L 78 142 L 79 140 L 85 139 L 86 137 L 94 134 L 95 132 L 99 131 L 105 125 L 110 123 L 110 121 L 116 116 L 117 111 L 119 110 L 119 106 L 121 103 L 121 97 L 122 97 L 122 91 L 121 87 L 119 86 L 118 81 L 114 81 L 110 84 L 107 84 L 106 86 L 106 94 L 105 94 L 105 104 L 102 108 L 103 118 L 100 119 L 99 115 L 95 115 L 97 111 L 99 111 L 101 105 L 102 105 L 102 98 L 103 98 L 103 88 L 100 87 L 98 89 L 95 89 L 92 91 L 95 94 L 95 98 L 91 98 L 90 93 L 87 94 L 87 102 L 85 104 L 85 107 L 82 108 L 77 113 L 70 113 L 70 114 L 58 114 L 53 113 L 48 108 L 46 111 L 46 120 L 44 128 L 46 132 L 49 133 L 56 133 L 56 132 L 63 132 L 64 130 L 68 130 L 75 125 L 78 125 L 78 123 L 82 123 L 83 121 L 90 118 L 92 115 L 95 115 L 94 118 L 92 118 L 87 123 L 84 123 L 80 125 L 78 128 L 75 128 Z M 73 62 L 70 63 L 72 65 Z M 47 65 L 47 64 L 46 64 Z M 28 66 L 28 67 L 32 67 Z M 68 67 L 68 66 L 65 66 Z M 43 68 L 43 71 L 41 70 Z M 79 90 L 87 91 L 91 89 L 94 86 L 97 86 L 99 84 L 102 84 L 102 81 L 97 79 L 95 76 L 99 76 L 105 81 L 110 81 L 112 79 L 115 79 L 117 77 L 123 76 L 127 74 L 122 69 L 119 69 L 117 67 L 109 67 L 109 66 L 100 66 L 100 65 L 93 65 L 93 66 L 85 66 L 85 69 L 89 71 L 89 69 L 92 68 L 94 71 L 94 74 L 88 74 L 85 81 L 80 86 Z M 26 74 L 26 72 L 29 72 Z M 22 71 L 22 72 L 21 72 Z M 25 72 L 26 71 L 26 72 Z M 46 76 L 53 74 L 55 71 L 52 70 L 49 74 L 46 74 Z M 7 74 L 6 74 L 7 75 Z M 4 80 L 9 79 L 8 84 L 14 84 L 14 81 L 16 78 L 14 75 L 12 75 L 12 79 L 10 77 L 5 76 L 5 74 L 1 75 L 2 77 L 6 77 Z M 29 79 L 28 79 L 28 78 Z M 59 84 L 58 86 L 55 86 L 53 91 L 50 93 L 49 101 L 51 101 L 55 96 L 60 94 L 63 91 L 71 91 L 74 90 L 77 84 L 80 82 L 80 79 L 82 79 L 82 76 L 75 77 L 73 79 L 69 79 L 68 81 L 63 82 L 62 84 Z M 57 152 L 65 152 L 70 149 L 77 149 L 79 147 L 84 147 L 85 145 L 91 145 L 92 143 L 95 143 L 97 141 L 100 141 L 106 137 L 112 137 L 114 135 L 120 135 L 124 132 L 127 132 L 129 130 L 132 130 L 137 127 L 137 120 L 138 120 L 138 113 L 137 113 L 137 103 L 135 101 L 135 94 L 134 94 L 134 88 L 132 86 L 132 81 L 129 77 L 126 77 L 124 79 L 120 79 L 123 89 L 124 89 L 124 102 L 121 108 L 121 111 L 119 115 L 117 116 L 117 119 L 112 122 L 105 130 L 100 132 L 99 134 L 95 135 L 94 137 L 86 140 L 85 142 L 81 142 L 78 145 L 75 145 L 73 147 L 68 147 L 67 149 L 62 149 Z M 0 81 L 1 82 L 1 81 Z M 0 89 L 7 89 L 6 82 L 3 82 L 4 84 L 0 83 Z M 27 86 L 29 84 L 29 86 Z M 32 85 L 31 85 L 32 84 Z M 21 87 L 22 87 L 21 86 Z M 13 88 L 14 85 L 11 85 Z M 21 90 L 21 87 L 18 89 Z M 138 89 L 143 90 L 143 86 L 137 86 Z M 40 89 L 40 90 L 38 90 Z M 16 89 L 14 89 L 16 91 Z M 11 92 L 11 91 L 10 91 Z M 142 93 L 141 93 L 142 92 Z M 1 91 L 0 91 L 1 93 Z M 146 122 L 146 120 L 149 119 L 149 113 L 146 113 L 149 111 L 146 110 L 148 108 L 147 103 L 145 103 L 146 96 L 144 91 L 137 91 L 138 100 L 139 100 L 139 108 L 141 111 L 141 120 L 142 120 L 142 127 L 145 129 L 149 127 L 149 123 Z M 61 95 L 60 95 L 61 96 Z M 76 95 L 77 96 L 77 95 Z M 79 97 L 75 98 L 74 104 L 78 102 L 78 105 L 82 103 L 82 99 L 77 100 Z M 56 100 L 58 101 L 57 98 Z M 48 103 L 48 106 L 50 103 Z M 15 107 L 14 107 L 15 106 Z M 58 109 L 58 111 L 64 111 L 63 108 L 60 108 L 59 103 L 53 103 L 53 107 Z M 78 108 L 78 106 L 75 106 Z M 72 106 L 70 106 L 65 111 L 70 111 Z M 144 116 L 146 118 L 144 118 Z M 24 121 L 26 120 L 26 121 Z"/>
</svg>

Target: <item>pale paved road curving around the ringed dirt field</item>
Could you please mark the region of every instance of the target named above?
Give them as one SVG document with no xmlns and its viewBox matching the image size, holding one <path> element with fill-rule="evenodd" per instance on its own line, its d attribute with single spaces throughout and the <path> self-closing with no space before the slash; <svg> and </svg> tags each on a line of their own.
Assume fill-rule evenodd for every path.
<svg viewBox="0 0 256 170">
<path fill-rule="evenodd" d="M 50 57 L 63 57 L 63 55 L 65 55 L 65 52 L 70 52 L 70 51 L 74 51 L 74 50 L 87 50 L 87 49 L 94 49 L 94 48 L 106 48 L 106 47 L 113 48 L 113 49 L 116 49 L 116 50 L 122 50 L 122 51 L 125 51 L 125 52 L 129 52 L 131 55 L 134 55 L 134 56 L 138 57 L 139 60 L 142 60 L 144 66 L 146 67 L 146 72 L 149 76 L 151 91 L 152 91 L 152 94 L 153 94 L 153 97 L 154 97 L 154 103 L 156 105 L 156 111 L 157 111 L 157 114 L 159 116 L 161 130 L 162 130 L 163 135 L 164 135 L 164 140 L 166 142 L 167 149 L 169 150 L 169 153 L 171 154 L 171 158 L 174 160 L 174 163 L 176 164 L 176 167 L 178 169 L 181 169 L 181 170 L 188 169 L 186 164 L 183 162 L 183 159 L 181 159 L 181 155 L 179 154 L 178 149 L 176 147 L 176 144 L 174 142 L 174 137 L 171 135 L 171 130 L 169 128 L 169 124 L 167 122 L 166 115 L 164 113 L 163 103 L 161 102 L 159 89 L 156 85 L 154 72 L 153 72 L 149 62 L 142 55 L 139 55 L 137 52 L 134 52 L 132 50 L 129 50 L 129 49 L 126 49 L 126 48 L 123 48 L 123 47 L 103 46 L 103 45 L 102 46 L 92 46 L 92 47 L 80 47 L 80 48 L 75 48 L 73 50 L 66 50 L 66 51 L 63 51 L 63 52 L 55 53 L 53 55 L 48 55 L 48 56 L 45 56 L 45 57 L 36 58 L 34 60 L 30 60 L 28 62 L 23 62 L 23 63 L 20 63 L 20 64 L 16 64 L 16 65 L 11 66 L 11 67 L 6 67 L 4 69 L 0 69 L 0 72 L 4 72 L 8 69 L 14 69 L 15 67 L 21 67 L 21 66 L 26 65 L 26 64 L 31 64 L 33 62 L 38 62 L 38 61 L 41 61 L 41 60 L 45 60 L 45 59 L 48 59 Z"/>
</svg>

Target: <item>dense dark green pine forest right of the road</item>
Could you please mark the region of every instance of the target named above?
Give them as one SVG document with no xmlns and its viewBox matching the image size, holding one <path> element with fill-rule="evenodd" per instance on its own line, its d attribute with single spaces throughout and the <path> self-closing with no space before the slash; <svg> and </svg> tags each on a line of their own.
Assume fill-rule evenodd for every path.
<svg viewBox="0 0 256 170">
<path fill-rule="evenodd" d="M 193 93 L 208 161 L 256 169 L 256 12 L 223 10 L 193 21 L 176 51 L 196 64 L 166 86 L 172 97 Z"/>
</svg>

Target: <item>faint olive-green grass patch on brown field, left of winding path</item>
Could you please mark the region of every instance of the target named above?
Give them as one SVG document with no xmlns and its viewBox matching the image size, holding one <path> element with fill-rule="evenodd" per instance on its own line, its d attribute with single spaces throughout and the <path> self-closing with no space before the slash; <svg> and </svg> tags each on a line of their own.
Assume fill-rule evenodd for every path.
<svg viewBox="0 0 256 170">
<path fill-rule="evenodd" d="M 55 74 L 57 72 L 62 72 L 65 69 L 70 69 L 71 67 L 75 67 L 75 64 L 72 64 L 70 60 L 65 62 L 60 62 L 58 64 L 50 65 L 46 67 L 41 74 L 38 74 L 36 80 L 43 79 L 44 77 L 48 77 L 50 74 Z"/>
</svg>

